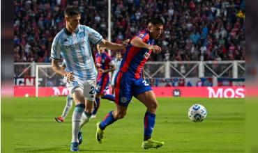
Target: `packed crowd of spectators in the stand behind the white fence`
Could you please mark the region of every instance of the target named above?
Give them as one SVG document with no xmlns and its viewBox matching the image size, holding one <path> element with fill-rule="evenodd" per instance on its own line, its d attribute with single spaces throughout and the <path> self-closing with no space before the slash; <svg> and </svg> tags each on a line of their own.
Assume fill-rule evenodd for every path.
<svg viewBox="0 0 258 153">
<path fill-rule="evenodd" d="M 52 40 L 64 26 L 67 5 L 78 6 L 81 24 L 107 38 L 107 0 L 15 0 L 15 62 L 50 62 Z M 245 58 L 244 0 L 112 0 L 112 41 L 121 42 L 146 28 L 149 17 L 165 22 L 157 42 L 162 54 L 150 61 Z"/>
</svg>

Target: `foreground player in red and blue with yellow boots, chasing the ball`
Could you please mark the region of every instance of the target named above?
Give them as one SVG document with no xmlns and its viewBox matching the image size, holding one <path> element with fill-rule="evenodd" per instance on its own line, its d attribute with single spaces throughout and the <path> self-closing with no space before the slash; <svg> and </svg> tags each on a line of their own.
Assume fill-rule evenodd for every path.
<svg viewBox="0 0 258 153">
<path fill-rule="evenodd" d="M 107 113 L 102 122 L 97 123 L 96 138 L 99 143 L 103 143 L 105 128 L 126 115 L 128 104 L 134 96 L 146 106 L 142 147 L 146 150 L 164 145 L 164 142 L 151 138 L 158 102 L 151 86 L 143 79 L 142 74 L 144 63 L 148 60 L 151 52 L 160 53 L 161 51 L 161 48 L 155 45 L 155 40 L 160 37 L 163 25 L 161 19 L 152 18 L 148 22 L 148 28 L 140 31 L 130 40 L 120 70 L 116 74 L 116 108 Z"/>
</svg>

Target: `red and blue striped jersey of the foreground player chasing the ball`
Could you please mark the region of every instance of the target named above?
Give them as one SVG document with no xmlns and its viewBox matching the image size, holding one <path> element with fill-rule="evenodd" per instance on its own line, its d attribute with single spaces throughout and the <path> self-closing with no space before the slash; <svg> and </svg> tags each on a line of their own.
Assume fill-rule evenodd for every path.
<svg viewBox="0 0 258 153">
<path fill-rule="evenodd" d="M 150 38 L 148 29 L 139 31 L 139 33 L 133 36 L 132 39 L 135 37 L 141 38 L 143 42 L 151 46 L 155 44 L 155 40 Z M 151 56 L 151 51 L 152 50 L 145 48 L 134 47 L 129 43 L 126 48 L 126 54 L 123 56 L 123 60 L 121 62 L 120 71 L 128 72 L 132 77 L 135 77 L 135 79 L 141 78 L 142 68 L 149 56 Z"/>
</svg>

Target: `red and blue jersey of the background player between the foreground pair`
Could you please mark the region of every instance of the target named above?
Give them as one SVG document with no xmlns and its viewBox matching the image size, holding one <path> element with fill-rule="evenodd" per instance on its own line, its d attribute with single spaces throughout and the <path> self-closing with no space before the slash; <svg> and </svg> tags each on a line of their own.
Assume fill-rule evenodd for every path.
<svg viewBox="0 0 258 153">
<path fill-rule="evenodd" d="M 112 61 L 112 58 L 111 58 L 111 56 L 109 56 L 109 54 L 107 54 L 107 52 L 104 52 L 102 54 L 99 54 L 98 52 L 96 53 L 95 63 L 96 63 L 97 69 L 99 69 L 99 68 L 101 68 L 103 70 L 109 69 L 111 61 Z M 109 79 L 109 74 L 98 72 L 97 81 L 99 81 L 102 77 Z"/>
</svg>

